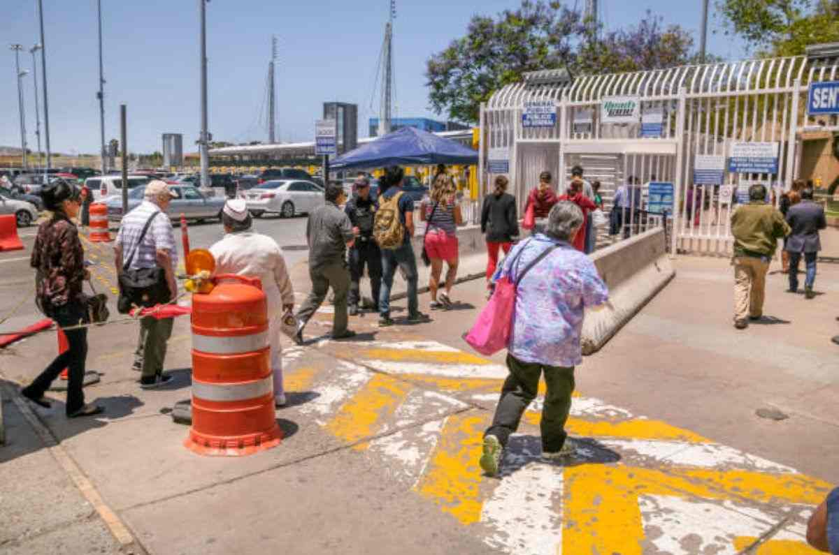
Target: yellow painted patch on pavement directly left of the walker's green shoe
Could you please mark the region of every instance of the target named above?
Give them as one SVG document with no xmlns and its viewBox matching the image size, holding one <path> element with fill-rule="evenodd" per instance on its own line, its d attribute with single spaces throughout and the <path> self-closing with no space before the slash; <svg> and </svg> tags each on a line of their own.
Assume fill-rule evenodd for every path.
<svg viewBox="0 0 839 555">
<path fill-rule="evenodd" d="M 462 412 L 446 418 L 425 475 L 414 487 L 462 524 L 481 520 L 483 478 L 478 459 L 483 430 L 490 418 L 484 411 Z"/>
</svg>

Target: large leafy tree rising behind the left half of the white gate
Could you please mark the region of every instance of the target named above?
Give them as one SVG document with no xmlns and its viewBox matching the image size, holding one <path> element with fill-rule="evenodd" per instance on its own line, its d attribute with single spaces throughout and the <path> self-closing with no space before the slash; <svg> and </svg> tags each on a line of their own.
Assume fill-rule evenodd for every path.
<svg viewBox="0 0 839 555">
<path fill-rule="evenodd" d="M 637 25 L 604 34 L 559 2 L 523 0 L 497 18 L 475 15 L 466 35 L 426 64 L 431 107 L 477 122 L 481 102 L 527 71 L 563 68 L 572 75 L 654 70 L 690 62 L 693 38 L 649 11 Z"/>
</svg>

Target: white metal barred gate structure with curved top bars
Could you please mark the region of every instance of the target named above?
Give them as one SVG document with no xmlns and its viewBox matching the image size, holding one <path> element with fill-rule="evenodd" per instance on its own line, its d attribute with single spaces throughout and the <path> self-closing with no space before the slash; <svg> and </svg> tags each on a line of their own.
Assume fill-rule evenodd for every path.
<svg viewBox="0 0 839 555">
<path fill-rule="evenodd" d="M 727 254 L 736 195 L 725 194 L 752 183 L 789 188 L 799 167 L 796 134 L 807 122 L 803 98 L 811 82 L 834 80 L 837 70 L 836 59 L 800 56 L 588 75 L 572 83 L 556 70 L 525 75 L 482 106 L 481 194 L 492 177 L 487 157 L 498 152 L 508 153 L 519 210 L 540 172 L 568 179 L 575 163 L 586 169 L 586 179 L 601 180 L 607 201 L 630 176 L 642 184 L 667 180 L 675 187 L 674 252 Z M 602 122 L 602 101 L 614 96 L 632 96 L 642 113 L 660 113 L 659 136 L 641 138 L 639 123 Z M 553 127 L 522 125 L 524 102 L 534 100 L 554 102 Z M 778 143 L 777 173 L 725 171 L 722 183 L 695 184 L 696 157 L 728 157 L 732 143 Z"/>
</svg>

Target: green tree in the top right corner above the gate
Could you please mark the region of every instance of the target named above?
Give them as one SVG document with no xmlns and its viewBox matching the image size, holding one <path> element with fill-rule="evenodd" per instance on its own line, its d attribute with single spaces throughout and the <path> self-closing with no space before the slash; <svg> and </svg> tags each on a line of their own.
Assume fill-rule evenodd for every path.
<svg viewBox="0 0 839 555">
<path fill-rule="evenodd" d="M 727 34 L 760 56 L 804 54 L 810 44 L 839 41 L 837 0 L 717 0 Z"/>
</svg>

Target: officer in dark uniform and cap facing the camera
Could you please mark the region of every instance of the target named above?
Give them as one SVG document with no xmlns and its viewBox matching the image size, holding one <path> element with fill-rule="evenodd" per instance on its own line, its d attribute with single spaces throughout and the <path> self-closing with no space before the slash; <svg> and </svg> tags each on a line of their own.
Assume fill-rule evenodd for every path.
<svg viewBox="0 0 839 555">
<path fill-rule="evenodd" d="M 373 295 L 373 310 L 378 312 L 378 296 L 382 290 L 382 251 L 373 240 L 373 220 L 378 210 L 378 202 L 370 196 L 370 180 L 359 174 L 352 184 L 355 193 L 347 200 L 344 211 L 350 218 L 353 230 L 357 230 L 356 243 L 350 248 L 350 294 L 349 314 L 358 314 L 358 303 L 361 302 L 361 279 L 364 267 L 370 276 L 370 292 Z"/>
</svg>

